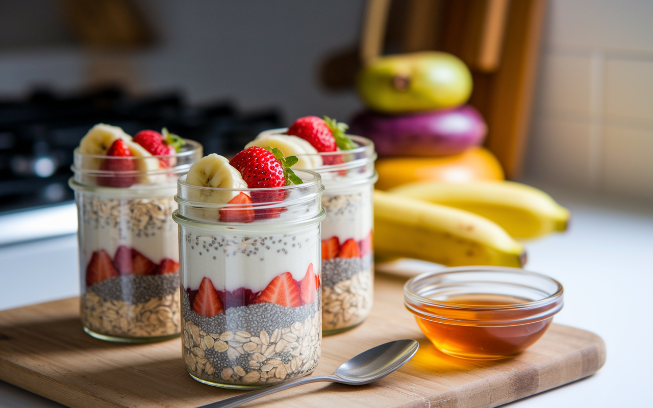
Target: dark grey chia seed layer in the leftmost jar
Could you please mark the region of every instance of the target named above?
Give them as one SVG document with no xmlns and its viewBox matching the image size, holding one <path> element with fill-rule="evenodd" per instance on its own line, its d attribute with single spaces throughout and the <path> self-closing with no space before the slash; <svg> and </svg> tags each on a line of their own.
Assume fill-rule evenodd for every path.
<svg viewBox="0 0 653 408">
<path fill-rule="evenodd" d="M 122 275 L 104 279 L 86 289 L 102 300 L 121 300 L 127 304 L 146 303 L 170 296 L 179 289 L 179 273 L 165 275 Z"/>
</svg>

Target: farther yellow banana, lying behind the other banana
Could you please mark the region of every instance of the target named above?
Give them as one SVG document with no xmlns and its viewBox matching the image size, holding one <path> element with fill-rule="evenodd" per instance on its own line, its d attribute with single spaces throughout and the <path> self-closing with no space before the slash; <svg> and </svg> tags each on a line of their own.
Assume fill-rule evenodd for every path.
<svg viewBox="0 0 653 408">
<path fill-rule="evenodd" d="M 419 181 L 395 187 L 390 192 L 481 215 L 501 225 L 515 238 L 537 238 L 564 231 L 569 222 L 569 210 L 547 193 L 513 181 L 455 184 Z"/>
</svg>

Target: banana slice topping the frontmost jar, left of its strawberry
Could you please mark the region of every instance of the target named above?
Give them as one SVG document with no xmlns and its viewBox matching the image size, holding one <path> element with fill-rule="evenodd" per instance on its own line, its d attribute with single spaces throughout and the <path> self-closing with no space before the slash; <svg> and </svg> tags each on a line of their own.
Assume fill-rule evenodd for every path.
<svg viewBox="0 0 653 408">
<path fill-rule="evenodd" d="M 186 183 L 199 187 L 221 189 L 246 189 L 247 183 L 240 172 L 223 156 L 211 153 L 196 161 L 188 170 Z M 200 202 L 229 202 L 238 191 L 211 191 L 197 189 L 189 194 L 191 200 Z"/>
</svg>

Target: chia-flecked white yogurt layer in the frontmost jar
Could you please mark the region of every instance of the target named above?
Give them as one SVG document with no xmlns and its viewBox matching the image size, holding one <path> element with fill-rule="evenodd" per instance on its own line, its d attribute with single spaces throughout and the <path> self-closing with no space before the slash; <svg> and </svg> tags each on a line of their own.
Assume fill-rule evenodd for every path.
<svg viewBox="0 0 653 408">
<path fill-rule="evenodd" d="M 311 263 L 315 274 L 321 268 L 318 225 L 293 234 L 256 237 L 208 234 L 189 227 L 180 232 L 185 288 L 198 289 L 208 277 L 217 290 L 259 292 L 284 272 L 300 281 Z"/>
</svg>

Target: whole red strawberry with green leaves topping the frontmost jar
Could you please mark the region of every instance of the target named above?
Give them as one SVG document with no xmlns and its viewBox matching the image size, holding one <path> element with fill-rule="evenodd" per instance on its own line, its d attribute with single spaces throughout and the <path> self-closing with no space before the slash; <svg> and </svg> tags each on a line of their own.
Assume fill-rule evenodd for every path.
<svg viewBox="0 0 653 408">
<path fill-rule="evenodd" d="M 234 166 L 247 188 L 264 189 L 290 185 L 291 181 L 301 184 L 302 179 L 295 176 L 289 167 L 297 163 L 296 156 L 283 157 L 281 150 L 274 148 L 272 151 L 252 146 L 244 149 L 234 156 L 229 164 Z M 285 198 L 283 191 L 252 191 L 252 202 L 275 202 Z M 255 208 L 255 219 L 279 217 L 283 208 Z"/>
</svg>

